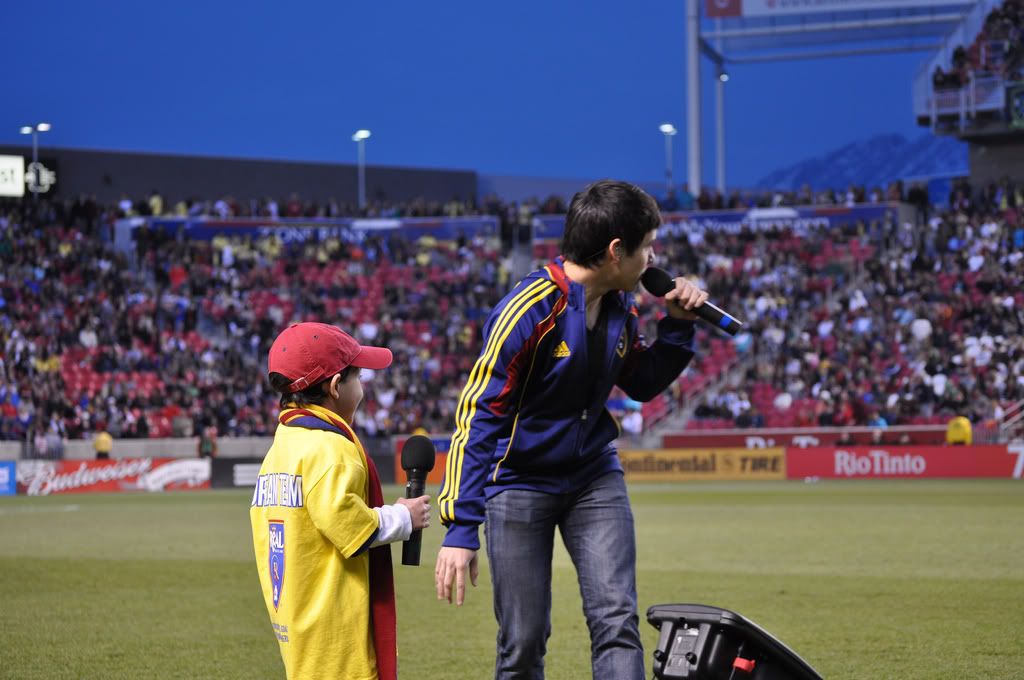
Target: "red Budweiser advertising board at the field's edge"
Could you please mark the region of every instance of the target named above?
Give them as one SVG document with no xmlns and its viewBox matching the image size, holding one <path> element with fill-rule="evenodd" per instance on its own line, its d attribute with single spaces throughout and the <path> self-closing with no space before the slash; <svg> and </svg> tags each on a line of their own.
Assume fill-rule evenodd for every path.
<svg viewBox="0 0 1024 680">
<path fill-rule="evenodd" d="M 208 458 L 17 462 L 17 493 L 28 496 L 209 487 Z"/>
</svg>

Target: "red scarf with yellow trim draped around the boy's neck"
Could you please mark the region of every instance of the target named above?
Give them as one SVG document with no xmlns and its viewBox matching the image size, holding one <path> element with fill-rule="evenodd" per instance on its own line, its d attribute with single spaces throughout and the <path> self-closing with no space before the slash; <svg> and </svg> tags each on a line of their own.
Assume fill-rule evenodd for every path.
<svg viewBox="0 0 1024 680">
<path fill-rule="evenodd" d="M 315 420 L 309 420 L 315 419 Z M 367 462 L 368 498 L 372 508 L 384 505 L 384 493 L 377 466 L 367 456 L 362 442 L 355 432 L 341 418 L 330 411 L 318 408 L 285 409 L 281 412 L 283 425 L 323 429 L 342 435 L 355 444 L 362 460 Z M 370 549 L 370 621 L 374 628 L 374 649 L 377 652 L 377 677 L 380 680 L 397 680 L 398 645 L 395 633 L 397 618 L 394 608 L 394 572 L 391 567 L 391 546 Z"/>
</svg>

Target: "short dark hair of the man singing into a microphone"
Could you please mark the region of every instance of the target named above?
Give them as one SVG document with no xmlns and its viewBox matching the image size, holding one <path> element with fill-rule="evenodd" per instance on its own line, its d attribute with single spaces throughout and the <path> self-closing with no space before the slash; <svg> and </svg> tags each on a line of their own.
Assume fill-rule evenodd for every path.
<svg viewBox="0 0 1024 680">
<path fill-rule="evenodd" d="M 612 240 L 622 239 L 626 254 L 632 255 L 647 232 L 660 225 L 662 214 L 649 194 L 629 182 L 602 179 L 572 197 L 562 256 L 580 266 L 596 267 Z"/>
</svg>

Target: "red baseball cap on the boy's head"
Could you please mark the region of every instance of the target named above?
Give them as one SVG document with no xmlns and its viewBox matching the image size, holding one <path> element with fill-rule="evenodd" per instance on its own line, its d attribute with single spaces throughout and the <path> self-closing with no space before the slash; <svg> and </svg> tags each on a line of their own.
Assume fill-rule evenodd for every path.
<svg viewBox="0 0 1024 680">
<path fill-rule="evenodd" d="M 391 366 L 387 347 L 367 347 L 336 326 L 307 322 L 293 324 L 270 345 L 267 369 L 291 378 L 289 392 L 301 391 L 349 366 L 386 369 Z"/>
</svg>

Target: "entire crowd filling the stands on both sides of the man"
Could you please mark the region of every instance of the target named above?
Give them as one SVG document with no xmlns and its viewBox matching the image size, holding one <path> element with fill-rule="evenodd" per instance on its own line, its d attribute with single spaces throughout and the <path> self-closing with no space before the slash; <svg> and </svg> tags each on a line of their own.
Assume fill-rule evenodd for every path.
<svg viewBox="0 0 1024 680">
<path fill-rule="evenodd" d="M 898 183 L 888 192 L 907 198 Z M 857 187 L 848 194 L 865 198 Z M 759 200 L 815 199 L 807 190 Z M 300 209 L 294 203 L 284 214 Z M 517 223 L 564 208 L 555 199 L 525 211 L 492 203 L 489 214 Z M 474 209 L 460 205 L 442 214 Z M 119 438 L 269 433 L 276 402 L 262 363 L 276 332 L 298 318 L 339 323 L 395 351 L 392 369 L 368 376 L 357 425 L 369 435 L 452 429 L 480 326 L 510 284 L 503 249 L 480 239 L 185 241 L 142 228 L 130 252 L 116 250 L 113 221 L 141 206 L 167 212 L 158 193 L 113 206 L 85 197 L 0 205 L 4 438 L 53 454 L 65 438 L 97 428 Z M 735 342 L 701 331 L 702 366 L 667 399 L 701 394 L 738 352 L 759 357 L 745 376 L 749 389 L 708 393 L 696 426 L 997 416 L 1024 396 L 1022 208 L 1021 187 L 1008 180 L 958 184 L 949 209 L 926 212 L 920 228 L 666 229 L 662 264 L 695 272 L 713 299 L 746 322 Z M 652 324 L 657 306 L 640 301 Z"/>
</svg>

